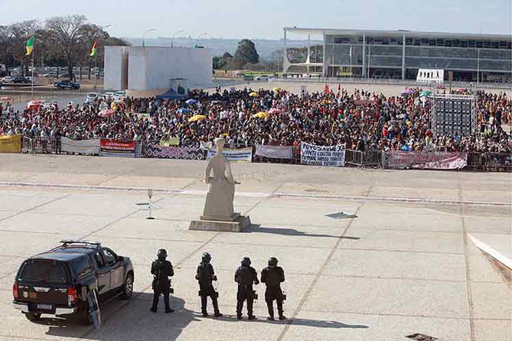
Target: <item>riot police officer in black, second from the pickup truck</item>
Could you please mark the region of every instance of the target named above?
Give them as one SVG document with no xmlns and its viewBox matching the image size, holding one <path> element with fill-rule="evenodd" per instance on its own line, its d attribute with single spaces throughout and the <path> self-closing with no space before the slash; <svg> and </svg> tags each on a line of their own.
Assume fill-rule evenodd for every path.
<svg viewBox="0 0 512 341">
<path fill-rule="evenodd" d="M 196 279 L 199 281 L 199 296 L 201 296 L 201 313 L 203 313 L 203 316 L 208 316 L 206 303 L 209 296 L 212 298 L 215 317 L 220 317 L 222 314 L 218 310 L 218 292 L 215 291 L 212 285 L 212 281 L 216 281 L 217 276 L 214 273 L 214 267 L 210 264 L 211 260 L 212 256 L 209 253 L 203 253 L 201 263 L 199 263 L 196 271 Z"/>
</svg>

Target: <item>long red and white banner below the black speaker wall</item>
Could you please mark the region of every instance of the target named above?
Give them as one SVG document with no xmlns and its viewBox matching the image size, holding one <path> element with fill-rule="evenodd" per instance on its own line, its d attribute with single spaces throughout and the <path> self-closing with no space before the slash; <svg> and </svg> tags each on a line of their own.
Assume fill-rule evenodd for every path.
<svg viewBox="0 0 512 341">
<path fill-rule="evenodd" d="M 468 165 L 468 153 L 423 153 L 391 151 L 389 168 L 461 169 Z"/>
</svg>

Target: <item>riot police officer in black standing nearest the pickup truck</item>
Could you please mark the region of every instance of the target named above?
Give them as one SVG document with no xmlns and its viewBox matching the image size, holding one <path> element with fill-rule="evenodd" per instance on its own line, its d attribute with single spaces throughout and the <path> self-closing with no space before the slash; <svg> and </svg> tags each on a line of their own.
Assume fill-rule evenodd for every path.
<svg viewBox="0 0 512 341">
<path fill-rule="evenodd" d="M 174 310 L 170 309 L 169 305 L 170 279 L 168 277 L 174 276 L 175 272 L 172 269 L 172 264 L 170 264 L 166 258 L 167 251 L 164 249 L 159 249 L 157 253 L 157 260 L 153 261 L 151 264 L 151 274 L 154 276 L 153 306 L 151 307 L 151 312 L 157 312 L 160 294 L 164 294 L 166 313 L 174 312 Z"/>
</svg>

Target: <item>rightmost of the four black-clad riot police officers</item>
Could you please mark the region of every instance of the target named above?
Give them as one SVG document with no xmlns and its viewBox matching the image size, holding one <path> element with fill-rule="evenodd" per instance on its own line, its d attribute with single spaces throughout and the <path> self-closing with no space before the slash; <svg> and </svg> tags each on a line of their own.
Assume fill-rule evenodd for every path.
<svg viewBox="0 0 512 341">
<path fill-rule="evenodd" d="M 274 320 L 274 301 L 277 301 L 277 312 L 279 320 L 284 320 L 283 315 L 283 290 L 281 282 L 285 281 L 285 272 L 283 268 L 277 266 L 277 258 L 272 257 L 268 260 L 268 266 L 261 270 L 261 283 L 265 283 L 265 301 L 268 307 L 268 320 Z"/>
</svg>

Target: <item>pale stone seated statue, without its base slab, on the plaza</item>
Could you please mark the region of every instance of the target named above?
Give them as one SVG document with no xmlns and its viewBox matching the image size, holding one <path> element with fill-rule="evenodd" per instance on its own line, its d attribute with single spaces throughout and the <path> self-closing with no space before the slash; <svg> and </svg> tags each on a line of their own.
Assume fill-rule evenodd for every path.
<svg viewBox="0 0 512 341">
<path fill-rule="evenodd" d="M 233 199 L 235 197 L 235 184 L 240 182 L 233 179 L 229 161 L 222 154 L 224 138 L 217 138 L 215 144 L 217 153 L 209 160 L 205 171 L 205 183 L 208 185 L 205 210 L 202 220 L 234 221 L 240 214 L 233 211 Z M 211 173 L 213 171 L 213 176 Z"/>
</svg>

